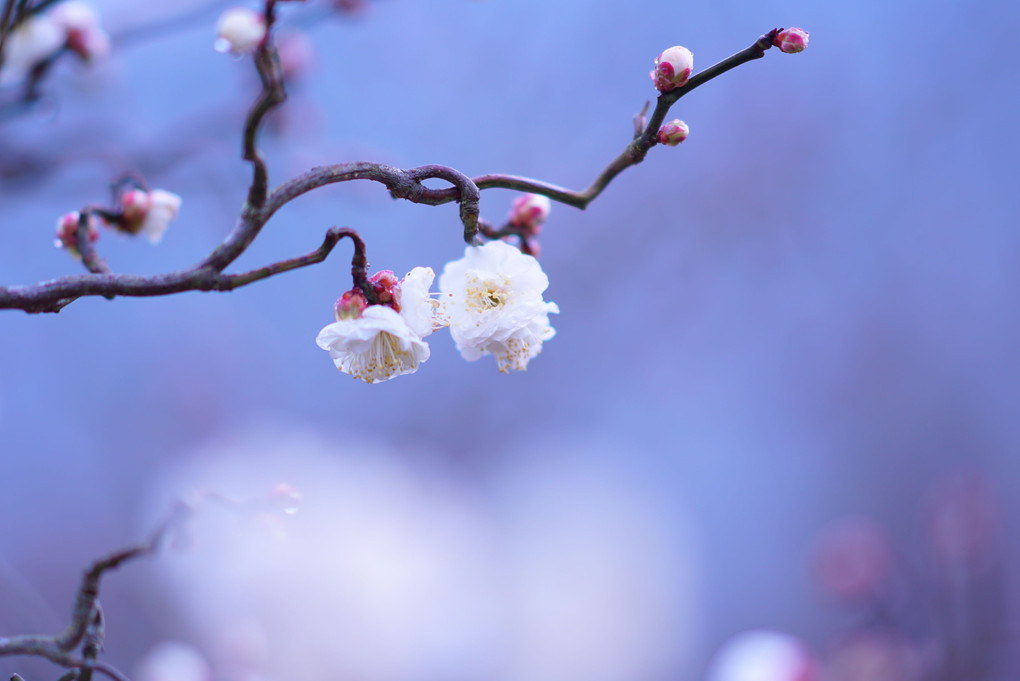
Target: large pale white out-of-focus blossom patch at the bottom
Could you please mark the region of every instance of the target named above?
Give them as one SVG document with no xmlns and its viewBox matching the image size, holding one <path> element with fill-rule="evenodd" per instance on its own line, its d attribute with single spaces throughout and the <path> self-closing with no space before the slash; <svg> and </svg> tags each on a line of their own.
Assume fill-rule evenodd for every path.
<svg viewBox="0 0 1020 681">
<path fill-rule="evenodd" d="M 157 476 L 153 504 L 287 480 L 303 502 L 286 531 L 207 507 L 195 548 L 154 569 L 223 681 L 666 678 L 691 637 L 675 517 L 591 459 L 550 467 L 562 452 L 478 486 L 430 456 L 249 427 Z"/>
</svg>

